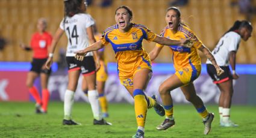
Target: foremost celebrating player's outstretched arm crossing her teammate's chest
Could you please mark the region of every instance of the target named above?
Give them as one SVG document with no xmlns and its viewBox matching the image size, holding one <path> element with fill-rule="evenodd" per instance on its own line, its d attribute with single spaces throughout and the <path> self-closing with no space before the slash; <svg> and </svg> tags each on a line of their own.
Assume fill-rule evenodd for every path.
<svg viewBox="0 0 256 138">
<path fill-rule="evenodd" d="M 157 37 L 153 41 L 155 43 L 158 43 L 161 45 L 166 45 L 166 46 L 175 46 L 175 45 L 185 46 L 185 47 L 193 46 L 193 42 L 192 42 L 191 38 L 186 38 L 184 40 L 171 40 L 169 38 L 160 37 L 159 35 L 157 35 Z"/>
</svg>

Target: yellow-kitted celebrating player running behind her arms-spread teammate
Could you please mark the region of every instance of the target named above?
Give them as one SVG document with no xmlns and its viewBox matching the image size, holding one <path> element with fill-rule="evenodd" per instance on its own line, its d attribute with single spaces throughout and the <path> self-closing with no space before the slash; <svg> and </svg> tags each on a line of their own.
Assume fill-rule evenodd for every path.
<svg viewBox="0 0 256 138">
<path fill-rule="evenodd" d="M 184 38 L 196 35 L 187 26 L 181 23 L 181 11 L 176 7 L 167 8 L 166 12 L 167 26 L 161 32 L 162 37 L 169 37 L 175 40 L 183 40 Z M 164 44 L 166 45 L 166 44 Z M 167 45 L 169 46 L 169 45 Z M 169 46 L 173 53 L 173 64 L 175 67 L 175 74 L 164 80 L 159 87 L 159 93 L 163 100 L 163 106 L 165 110 L 166 119 L 161 125 L 157 126 L 158 130 L 167 130 L 175 124 L 173 118 L 173 101 L 170 91 L 178 87 L 181 88 L 187 101 L 190 101 L 202 116 L 204 121 L 204 134 L 208 134 L 211 129 L 211 122 L 213 121 L 213 113 L 208 113 L 201 98 L 196 95 L 193 81 L 201 73 L 201 59 L 198 55 L 197 49 L 201 50 L 205 56 L 213 63 L 216 68 L 217 75 L 222 74 L 223 70 L 216 64 L 216 61 L 211 55 L 207 47 L 202 44 L 200 40 L 196 38 L 192 47 L 183 46 Z M 157 44 L 155 48 L 149 53 L 149 57 L 153 61 L 158 53 L 163 48 L 163 45 Z"/>
</svg>

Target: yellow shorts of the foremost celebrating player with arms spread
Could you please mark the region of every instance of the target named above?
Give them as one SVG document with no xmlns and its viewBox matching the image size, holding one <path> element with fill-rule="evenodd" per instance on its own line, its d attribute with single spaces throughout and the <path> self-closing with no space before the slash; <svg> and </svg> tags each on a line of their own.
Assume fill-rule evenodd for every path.
<svg viewBox="0 0 256 138">
<path fill-rule="evenodd" d="M 123 86 L 125 86 L 125 88 L 127 88 L 127 89 L 133 88 L 133 76 L 134 76 L 134 74 L 137 73 L 137 71 L 145 69 L 145 68 L 148 68 L 149 70 L 152 71 L 152 68 L 149 67 L 148 64 L 146 64 L 146 63 L 142 64 L 139 67 L 137 67 L 137 69 L 134 70 L 133 73 L 129 73 L 130 75 L 127 75 L 125 77 L 120 77 L 119 76 L 120 83 Z"/>
</svg>

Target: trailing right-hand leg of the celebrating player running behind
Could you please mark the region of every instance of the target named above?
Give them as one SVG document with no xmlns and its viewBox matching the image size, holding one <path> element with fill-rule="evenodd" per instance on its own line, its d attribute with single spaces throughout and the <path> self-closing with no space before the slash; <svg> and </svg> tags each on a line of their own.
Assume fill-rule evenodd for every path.
<svg viewBox="0 0 256 138">
<path fill-rule="evenodd" d="M 186 97 L 187 101 L 195 106 L 196 110 L 198 111 L 199 115 L 202 116 L 203 122 L 205 125 L 204 134 L 208 134 L 211 130 L 211 122 L 213 121 L 214 115 L 213 113 L 209 113 L 204 103 L 202 102 L 201 98 L 196 95 L 195 87 L 193 82 L 189 83 L 186 86 L 182 86 L 181 90 Z"/>
</svg>

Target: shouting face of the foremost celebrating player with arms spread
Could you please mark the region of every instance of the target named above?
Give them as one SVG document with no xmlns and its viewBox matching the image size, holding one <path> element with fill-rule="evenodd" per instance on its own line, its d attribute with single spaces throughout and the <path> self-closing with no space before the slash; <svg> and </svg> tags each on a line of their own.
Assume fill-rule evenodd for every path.
<svg viewBox="0 0 256 138">
<path fill-rule="evenodd" d="M 116 23 L 120 29 L 126 30 L 129 28 L 130 22 L 131 16 L 125 8 L 120 8 L 116 11 Z"/>
</svg>

